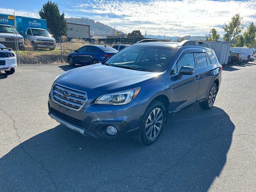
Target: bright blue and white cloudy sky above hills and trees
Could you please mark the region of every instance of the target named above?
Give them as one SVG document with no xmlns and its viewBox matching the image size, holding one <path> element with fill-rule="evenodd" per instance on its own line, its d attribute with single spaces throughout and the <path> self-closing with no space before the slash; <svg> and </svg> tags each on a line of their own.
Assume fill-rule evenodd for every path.
<svg viewBox="0 0 256 192">
<path fill-rule="evenodd" d="M 46 0 L 1 0 L 0 13 L 38 17 Z M 87 17 L 122 30 L 151 35 L 208 34 L 239 13 L 256 23 L 256 0 L 55 0 L 66 17 Z"/>
</svg>

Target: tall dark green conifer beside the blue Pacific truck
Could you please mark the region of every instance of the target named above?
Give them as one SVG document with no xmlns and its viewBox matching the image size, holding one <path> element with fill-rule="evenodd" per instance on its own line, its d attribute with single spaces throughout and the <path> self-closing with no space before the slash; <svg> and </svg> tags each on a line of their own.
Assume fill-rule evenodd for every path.
<svg viewBox="0 0 256 192">
<path fill-rule="evenodd" d="M 46 19 L 47 28 L 54 38 L 66 36 L 68 31 L 67 22 L 64 13 L 60 14 L 58 5 L 51 0 L 43 4 L 42 9 L 38 12 L 41 19 Z"/>
</svg>

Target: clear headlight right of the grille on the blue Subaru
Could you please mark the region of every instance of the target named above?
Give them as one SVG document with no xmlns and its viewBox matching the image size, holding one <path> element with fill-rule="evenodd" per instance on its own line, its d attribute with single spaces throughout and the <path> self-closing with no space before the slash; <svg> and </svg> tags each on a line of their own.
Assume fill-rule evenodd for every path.
<svg viewBox="0 0 256 192">
<path fill-rule="evenodd" d="M 100 96 L 95 104 L 112 104 L 112 105 L 124 105 L 130 103 L 139 93 L 140 87 L 128 91 L 111 93 Z"/>
</svg>

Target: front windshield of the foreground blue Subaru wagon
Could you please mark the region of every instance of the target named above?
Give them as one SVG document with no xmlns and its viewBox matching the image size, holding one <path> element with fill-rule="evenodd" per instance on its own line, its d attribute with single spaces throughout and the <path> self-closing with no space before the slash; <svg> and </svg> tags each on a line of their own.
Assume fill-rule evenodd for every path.
<svg viewBox="0 0 256 192">
<path fill-rule="evenodd" d="M 105 63 L 115 67 L 163 72 L 169 65 L 175 50 L 175 48 L 161 46 L 129 46 Z"/>
</svg>

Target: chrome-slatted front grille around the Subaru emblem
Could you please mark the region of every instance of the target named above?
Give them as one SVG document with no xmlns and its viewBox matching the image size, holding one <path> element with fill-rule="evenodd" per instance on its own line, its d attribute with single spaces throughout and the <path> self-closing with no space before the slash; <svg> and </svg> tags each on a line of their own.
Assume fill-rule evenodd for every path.
<svg viewBox="0 0 256 192">
<path fill-rule="evenodd" d="M 70 92 L 70 96 L 64 96 L 63 91 Z M 87 101 L 86 92 L 75 90 L 60 84 L 52 87 L 52 100 L 62 106 L 79 111 Z"/>
</svg>

